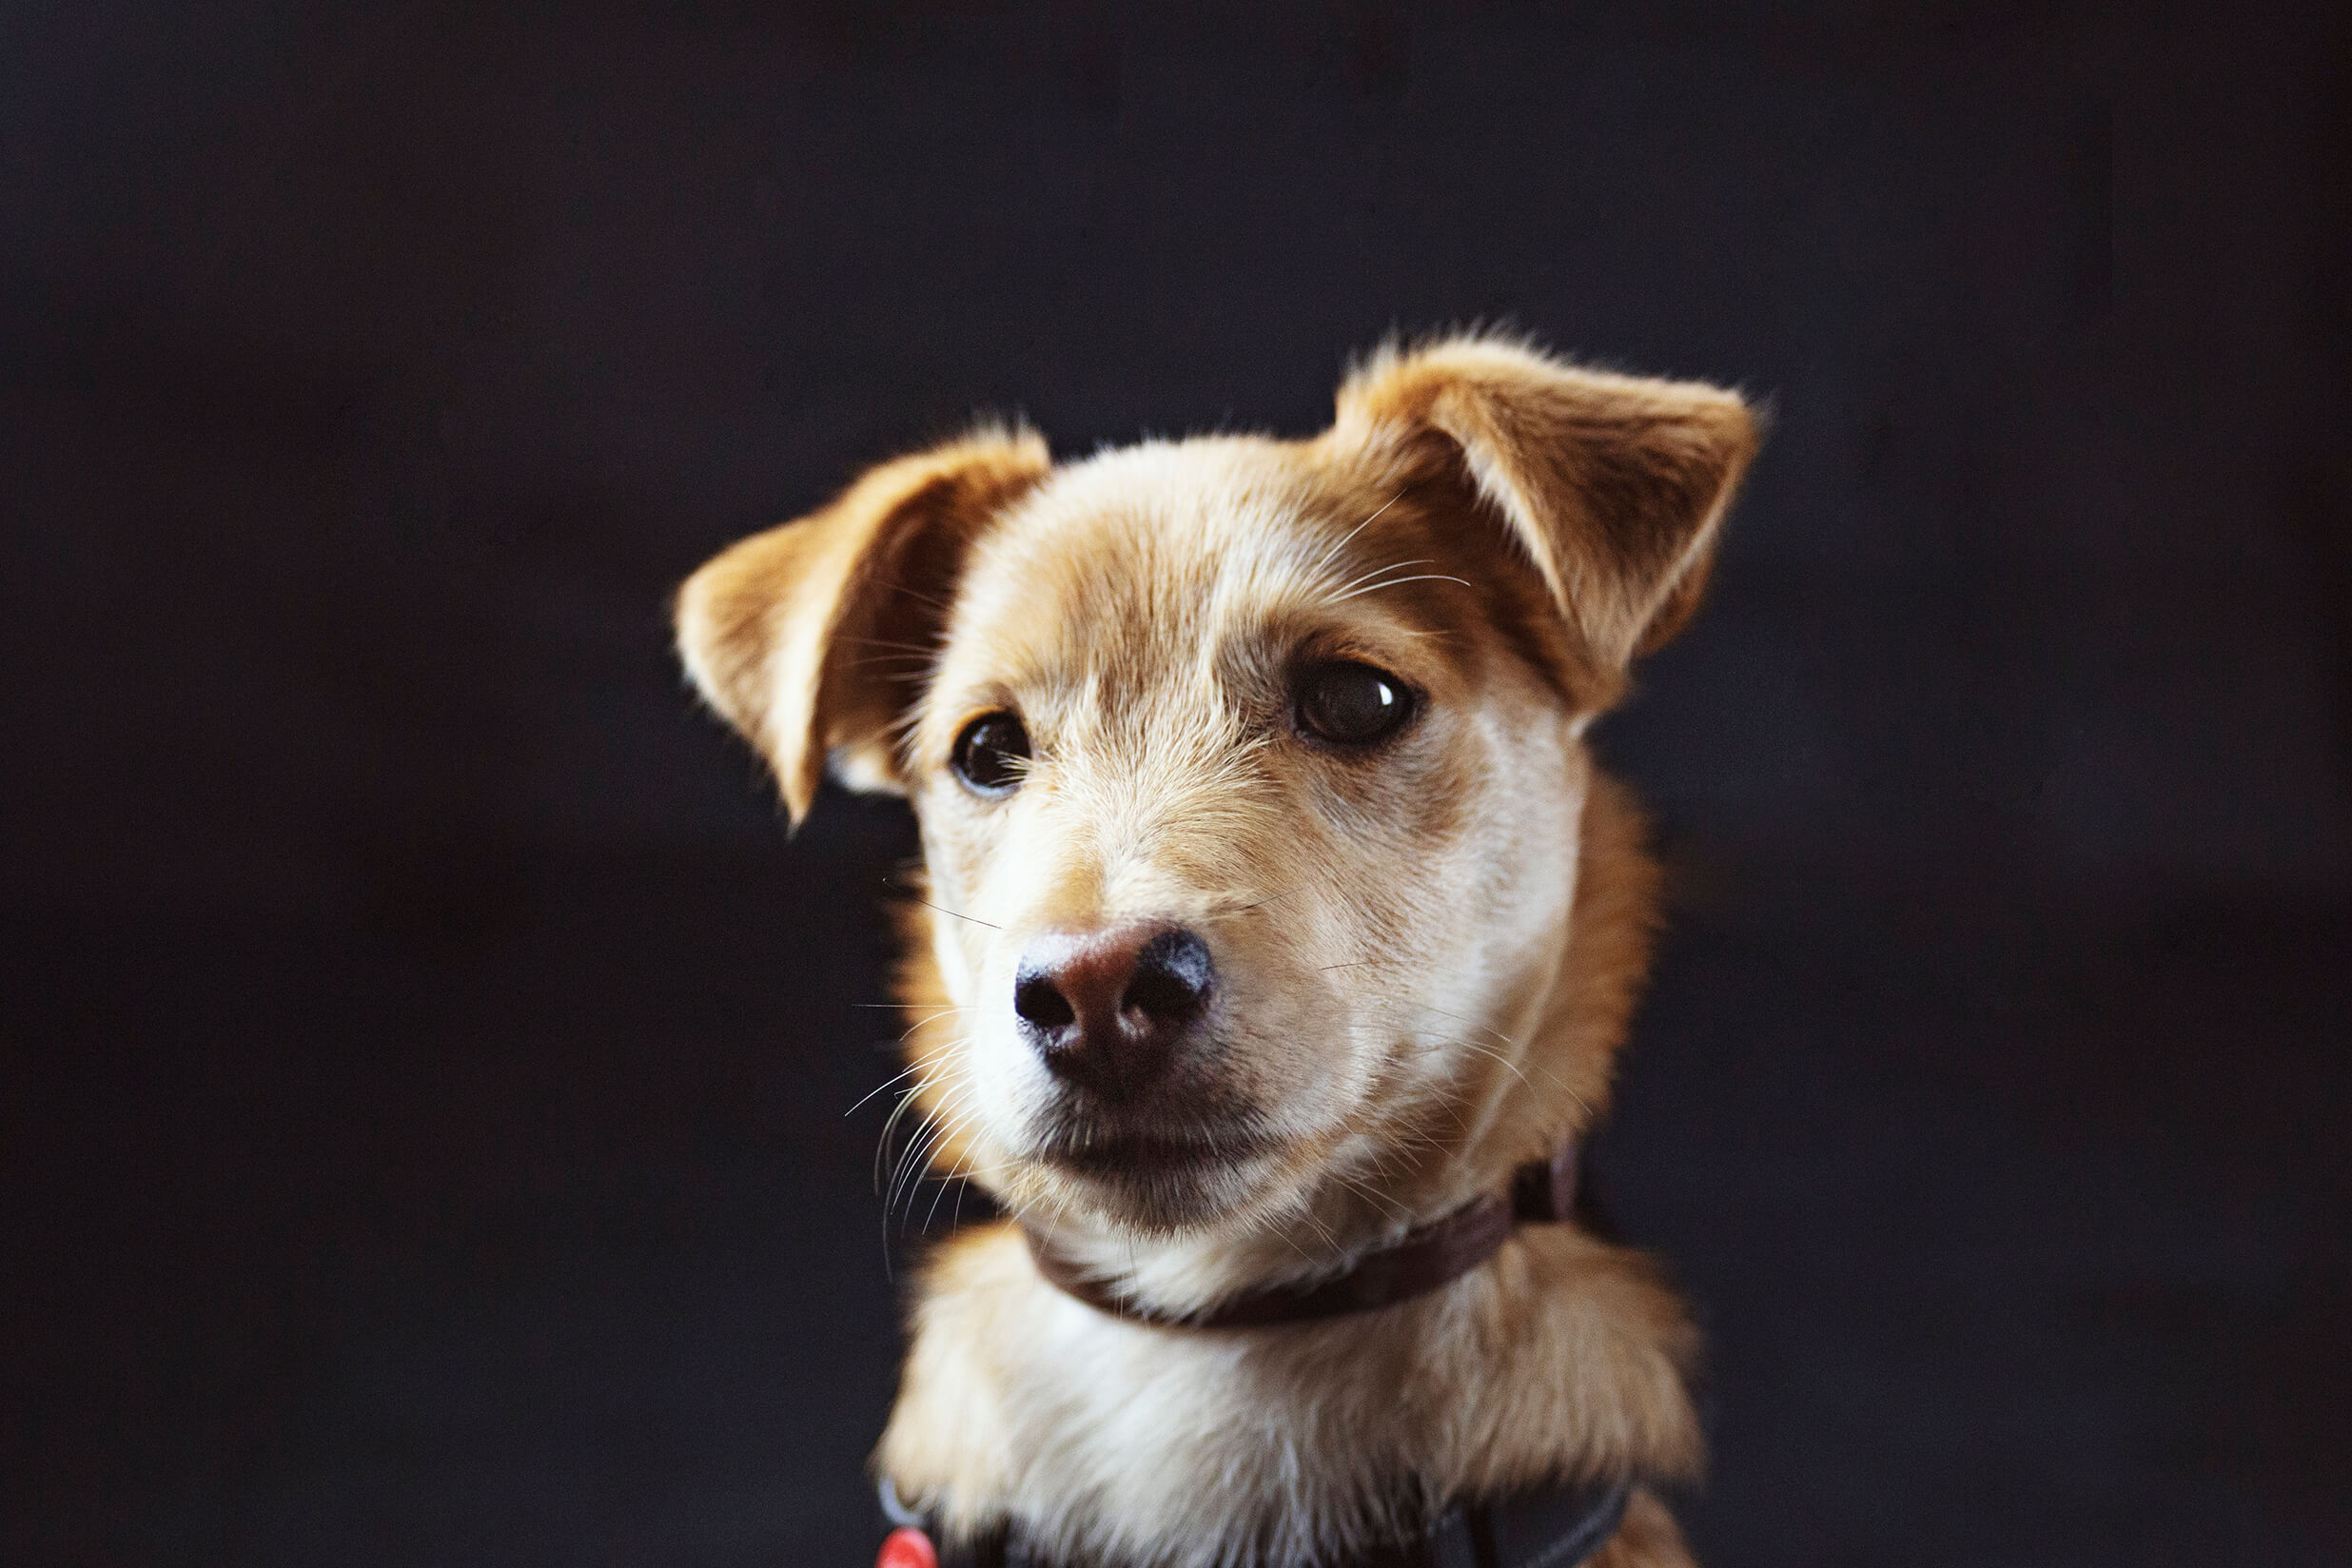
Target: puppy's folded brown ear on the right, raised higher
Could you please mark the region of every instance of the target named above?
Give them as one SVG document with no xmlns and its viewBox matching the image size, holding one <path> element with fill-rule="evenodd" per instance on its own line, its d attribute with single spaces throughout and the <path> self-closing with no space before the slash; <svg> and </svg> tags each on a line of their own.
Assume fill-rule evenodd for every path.
<svg viewBox="0 0 2352 1568">
<path fill-rule="evenodd" d="M 1465 480 L 1529 555 L 1604 686 L 1698 607 L 1757 423 L 1738 393 L 1576 369 L 1517 343 L 1381 350 L 1338 390 L 1338 444 Z M 1421 475 L 1416 475 L 1421 477 Z"/>
</svg>

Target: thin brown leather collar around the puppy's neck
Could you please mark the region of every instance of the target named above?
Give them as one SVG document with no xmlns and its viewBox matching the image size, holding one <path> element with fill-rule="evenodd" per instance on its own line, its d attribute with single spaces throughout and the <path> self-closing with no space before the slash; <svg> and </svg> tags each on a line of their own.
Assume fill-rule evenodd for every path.
<svg viewBox="0 0 2352 1568">
<path fill-rule="evenodd" d="M 1272 1284 L 1228 1295 L 1200 1312 L 1160 1312 L 1117 1284 L 1084 1272 L 1037 1232 L 1021 1227 L 1037 1272 L 1096 1312 L 1155 1328 L 1263 1328 L 1305 1324 L 1348 1312 L 1374 1312 L 1435 1291 L 1494 1258 L 1519 1225 L 1566 1220 L 1576 1204 L 1576 1145 L 1564 1143 L 1550 1159 L 1512 1171 L 1508 1192 L 1489 1192 L 1444 1220 L 1406 1232 L 1390 1246 L 1364 1253 L 1343 1274 L 1305 1284 Z"/>
</svg>

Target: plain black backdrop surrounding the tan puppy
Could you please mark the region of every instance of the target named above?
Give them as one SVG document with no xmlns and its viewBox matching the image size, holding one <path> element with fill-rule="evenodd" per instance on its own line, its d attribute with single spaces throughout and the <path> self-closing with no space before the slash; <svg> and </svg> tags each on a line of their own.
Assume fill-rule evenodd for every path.
<svg viewBox="0 0 2352 1568">
<path fill-rule="evenodd" d="M 1597 731 L 1703 1556 L 2352 1561 L 2347 78 L 2251 5 L 9 7 L 7 1561 L 868 1561 L 910 830 L 786 846 L 663 597 L 974 409 L 1308 433 L 1463 320 L 1778 409 Z"/>
</svg>

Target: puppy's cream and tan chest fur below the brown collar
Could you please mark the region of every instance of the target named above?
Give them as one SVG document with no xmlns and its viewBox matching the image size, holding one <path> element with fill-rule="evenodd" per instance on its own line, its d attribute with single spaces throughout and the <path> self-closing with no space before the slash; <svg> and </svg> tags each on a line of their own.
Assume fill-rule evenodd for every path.
<svg viewBox="0 0 2352 1568">
<path fill-rule="evenodd" d="M 990 1227 L 924 1281 L 877 1458 L 946 1528 L 1009 1516 L 1075 1561 L 1315 1561 L 1456 1495 L 1686 1474 L 1689 1352 L 1642 1260 L 1573 1229 L 1385 1312 L 1185 1331 L 1061 1295 Z"/>
</svg>

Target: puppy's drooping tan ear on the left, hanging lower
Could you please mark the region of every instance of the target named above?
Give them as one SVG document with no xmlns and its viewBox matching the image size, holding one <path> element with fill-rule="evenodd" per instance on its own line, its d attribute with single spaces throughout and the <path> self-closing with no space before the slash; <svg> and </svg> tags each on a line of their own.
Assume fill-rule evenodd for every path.
<svg viewBox="0 0 2352 1568">
<path fill-rule="evenodd" d="M 795 825 L 828 757 L 854 788 L 906 788 L 891 726 L 920 686 L 964 552 L 1049 468 L 1033 430 L 981 430 L 882 463 L 677 590 L 687 675 L 776 769 Z"/>
</svg>

